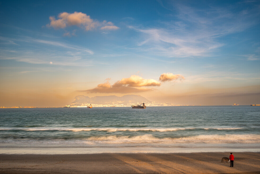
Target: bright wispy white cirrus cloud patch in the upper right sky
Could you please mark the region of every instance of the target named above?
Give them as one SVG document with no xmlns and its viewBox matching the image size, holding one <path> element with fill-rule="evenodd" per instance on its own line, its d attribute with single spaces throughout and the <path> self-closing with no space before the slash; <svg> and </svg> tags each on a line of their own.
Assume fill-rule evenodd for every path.
<svg viewBox="0 0 260 174">
<path fill-rule="evenodd" d="M 187 32 L 174 34 L 165 28 L 139 29 L 130 27 L 143 34 L 144 41 L 138 43 L 145 51 L 167 57 L 203 57 L 224 44 L 214 41 L 213 38 L 189 36 Z M 195 33 L 194 33 L 195 35 Z"/>
</svg>

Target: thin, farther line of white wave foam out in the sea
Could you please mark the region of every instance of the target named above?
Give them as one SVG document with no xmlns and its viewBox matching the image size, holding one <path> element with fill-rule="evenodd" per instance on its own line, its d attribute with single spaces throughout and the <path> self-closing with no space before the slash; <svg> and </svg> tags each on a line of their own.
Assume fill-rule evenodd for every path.
<svg viewBox="0 0 260 174">
<path fill-rule="evenodd" d="M 107 131 L 107 132 L 116 132 L 116 131 L 178 131 L 178 130 L 192 130 L 192 129 L 204 129 L 204 130 L 236 130 L 243 128 L 111 128 L 111 127 L 100 127 L 100 128 L 72 128 L 72 127 L 34 127 L 34 128 L 10 128 L 10 127 L 2 127 L 0 130 L 24 130 L 24 131 L 49 131 L 49 130 L 57 130 L 57 131 Z"/>
</svg>

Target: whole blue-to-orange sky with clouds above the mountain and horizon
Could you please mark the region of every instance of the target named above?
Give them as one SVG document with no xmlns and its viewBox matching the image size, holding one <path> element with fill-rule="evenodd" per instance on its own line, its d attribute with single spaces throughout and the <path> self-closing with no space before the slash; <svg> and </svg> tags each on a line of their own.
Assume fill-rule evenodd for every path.
<svg viewBox="0 0 260 174">
<path fill-rule="evenodd" d="M 260 1 L 0 1 L 0 106 L 135 94 L 260 104 Z"/>
</svg>

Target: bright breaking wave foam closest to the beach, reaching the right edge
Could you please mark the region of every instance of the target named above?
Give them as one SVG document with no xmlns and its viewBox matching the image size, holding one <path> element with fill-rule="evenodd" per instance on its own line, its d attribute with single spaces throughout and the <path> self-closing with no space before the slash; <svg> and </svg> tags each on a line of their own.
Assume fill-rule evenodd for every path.
<svg viewBox="0 0 260 174">
<path fill-rule="evenodd" d="M 93 136 L 85 139 L 88 144 L 139 144 L 139 143 L 207 143 L 207 144 L 225 144 L 225 143 L 260 143 L 258 134 L 226 134 L 226 135 L 196 135 L 181 138 L 157 138 L 150 134 L 140 136 Z"/>
</svg>

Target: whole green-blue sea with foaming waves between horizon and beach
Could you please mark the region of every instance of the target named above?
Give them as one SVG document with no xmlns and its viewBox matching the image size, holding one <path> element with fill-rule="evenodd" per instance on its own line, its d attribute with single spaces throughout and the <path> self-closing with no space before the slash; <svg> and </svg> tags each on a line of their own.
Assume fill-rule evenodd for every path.
<svg viewBox="0 0 260 174">
<path fill-rule="evenodd" d="M 260 107 L 0 109 L 0 154 L 175 152 L 260 152 Z"/>
</svg>

